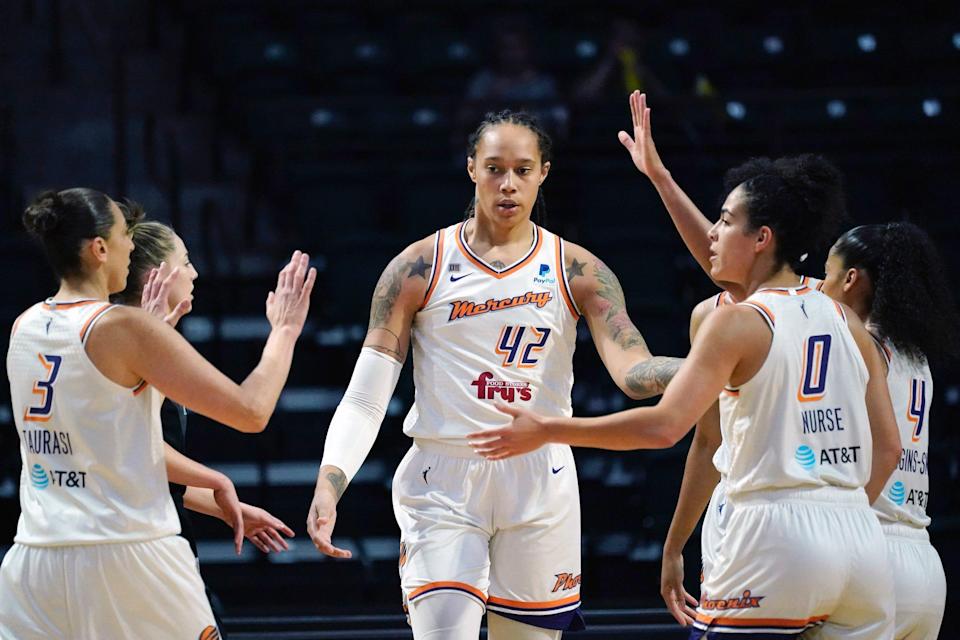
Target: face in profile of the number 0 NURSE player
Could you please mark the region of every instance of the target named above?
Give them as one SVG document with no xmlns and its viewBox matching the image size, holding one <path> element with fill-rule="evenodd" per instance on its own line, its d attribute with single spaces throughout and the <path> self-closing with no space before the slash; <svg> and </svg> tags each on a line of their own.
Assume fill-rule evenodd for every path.
<svg viewBox="0 0 960 640">
<path fill-rule="evenodd" d="M 750 227 L 743 187 L 730 192 L 720 219 L 710 229 L 710 276 L 717 281 L 744 282 L 756 257 L 756 230 Z"/>
</svg>

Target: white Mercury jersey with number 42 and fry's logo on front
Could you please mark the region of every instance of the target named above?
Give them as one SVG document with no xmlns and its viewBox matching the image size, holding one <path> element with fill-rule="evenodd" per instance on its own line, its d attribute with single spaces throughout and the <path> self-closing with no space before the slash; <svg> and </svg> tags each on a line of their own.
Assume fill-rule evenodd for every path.
<svg viewBox="0 0 960 640">
<path fill-rule="evenodd" d="M 466 223 L 434 239 L 433 271 L 414 317 L 416 397 L 403 431 L 466 445 L 505 426 L 496 401 L 570 416 L 580 317 L 563 269 L 563 240 L 532 225 L 530 250 L 495 269 L 467 246 Z"/>
</svg>

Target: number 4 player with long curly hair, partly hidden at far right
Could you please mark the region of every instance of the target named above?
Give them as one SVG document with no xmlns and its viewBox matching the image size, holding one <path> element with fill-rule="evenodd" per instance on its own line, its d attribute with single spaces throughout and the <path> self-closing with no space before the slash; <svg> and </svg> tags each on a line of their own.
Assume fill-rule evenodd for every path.
<svg viewBox="0 0 960 640">
<path fill-rule="evenodd" d="M 877 340 L 900 429 L 900 463 L 873 502 L 894 576 L 895 637 L 936 640 L 947 583 L 927 533 L 933 402 L 927 356 L 960 355 L 952 289 L 929 236 L 906 222 L 851 229 L 830 250 L 826 274 L 823 292 L 864 318 Z"/>
</svg>

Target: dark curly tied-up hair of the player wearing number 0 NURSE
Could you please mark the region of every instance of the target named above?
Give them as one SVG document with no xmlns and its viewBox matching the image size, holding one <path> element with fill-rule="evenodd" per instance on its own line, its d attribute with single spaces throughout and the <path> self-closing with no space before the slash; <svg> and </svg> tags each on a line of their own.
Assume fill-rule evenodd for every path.
<svg viewBox="0 0 960 640">
<path fill-rule="evenodd" d="M 723 182 L 726 195 L 743 186 L 750 227 L 770 227 L 777 263 L 794 271 L 829 246 L 846 218 L 843 176 L 823 156 L 752 158 L 730 169 Z"/>
</svg>

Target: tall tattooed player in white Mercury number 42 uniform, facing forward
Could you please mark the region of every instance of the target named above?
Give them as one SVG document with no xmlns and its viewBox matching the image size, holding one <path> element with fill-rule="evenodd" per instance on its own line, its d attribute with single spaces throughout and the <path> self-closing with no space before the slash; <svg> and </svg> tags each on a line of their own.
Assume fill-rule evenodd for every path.
<svg viewBox="0 0 960 640">
<path fill-rule="evenodd" d="M 494 403 L 571 414 L 576 326 L 585 316 L 617 385 L 661 393 L 678 361 L 652 357 L 623 291 L 591 253 L 531 221 L 550 141 L 523 113 L 471 136 L 468 218 L 412 244 L 373 296 L 370 331 L 327 434 L 307 527 L 331 544 L 336 504 L 376 437 L 408 348 L 414 439 L 393 481 L 401 586 L 417 640 L 559 638 L 580 621 L 580 512 L 570 448 L 483 460 L 466 434 L 505 423 Z"/>
</svg>

